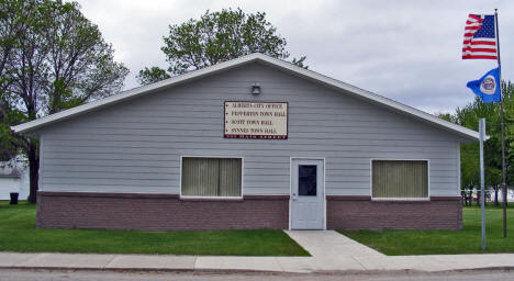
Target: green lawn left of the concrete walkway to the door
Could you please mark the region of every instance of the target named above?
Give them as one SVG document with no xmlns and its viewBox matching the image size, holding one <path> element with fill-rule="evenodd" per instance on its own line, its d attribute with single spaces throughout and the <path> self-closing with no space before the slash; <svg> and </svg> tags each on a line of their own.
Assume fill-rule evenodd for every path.
<svg viewBox="0 0 514 281">
<path fill-rule="evenodd" d="M 282 231 L 38 229 L 35 213 L 32 204 L 0 201 L 0 251 L 309 256 Z"/>
</svg>

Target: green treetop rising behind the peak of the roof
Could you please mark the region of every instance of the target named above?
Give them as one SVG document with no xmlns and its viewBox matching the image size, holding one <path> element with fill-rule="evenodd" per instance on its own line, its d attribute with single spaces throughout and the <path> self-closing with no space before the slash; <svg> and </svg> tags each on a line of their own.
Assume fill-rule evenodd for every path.
<svg viewBox="0 0 514 281">
<path fill-rule="evenodd" d="M 286 38 L 266 20 L 266 13 L 246 14 L 241 9 L 206 11 L 200 20 L 190 19 L 180 25 L 169 25 L 160 48 L 169 63 L 167 70 L 150 67 L 139 70 L 141 85 L 156 82 L 174 75 L 223 63 L 252 53 L 262 53 L 279 59 L 289 58 Z M 305 57 L 292 64 L 308 68 Z"/>
</svg>

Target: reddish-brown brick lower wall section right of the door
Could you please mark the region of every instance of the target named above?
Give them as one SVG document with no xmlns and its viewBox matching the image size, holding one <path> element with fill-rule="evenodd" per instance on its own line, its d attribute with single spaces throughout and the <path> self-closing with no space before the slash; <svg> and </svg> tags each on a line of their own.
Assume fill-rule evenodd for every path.
<svg viewBox="0 0 514 281">
<path fill-rule="evenodd" d="M 369 196 L 327 196 L 328 229 L 462 229 L 459 196 L 429 201 L 371 201 Z"/>
</svg>

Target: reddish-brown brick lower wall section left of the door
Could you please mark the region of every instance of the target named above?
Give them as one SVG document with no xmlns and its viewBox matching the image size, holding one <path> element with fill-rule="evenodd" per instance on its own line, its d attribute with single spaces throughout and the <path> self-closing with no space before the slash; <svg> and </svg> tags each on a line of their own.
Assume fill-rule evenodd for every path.
<svg viewBox="0 0 514 281">
<path fill-rule="evenodd" d="M 289 196 L 181 200 L 172 194 L 38 192 L 37 227 L 146 231 L 289 226 Z"/>
</svg>

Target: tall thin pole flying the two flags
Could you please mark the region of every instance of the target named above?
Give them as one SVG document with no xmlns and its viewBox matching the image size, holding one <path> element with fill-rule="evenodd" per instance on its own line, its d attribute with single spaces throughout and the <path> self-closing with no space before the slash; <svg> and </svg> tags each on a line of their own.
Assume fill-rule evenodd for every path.
<svg viewBox="0 0 514 281">
<path fill-rule="evenodd" d="M 500 60 L 500 30 L 498 29 L 498 9 L 494 9 L 494 23 L 496 25 L 498 70 L 500 83 L 500 97 L 502 97 L 502 63 Z M 502 186 L 503 186 L 503 237 L 506 237 L 506 170 L 505 170 L 505 124 L 503 121 L 503 97 L 500 100 L 500 120 L 502 127 Z"/>
</svg>

